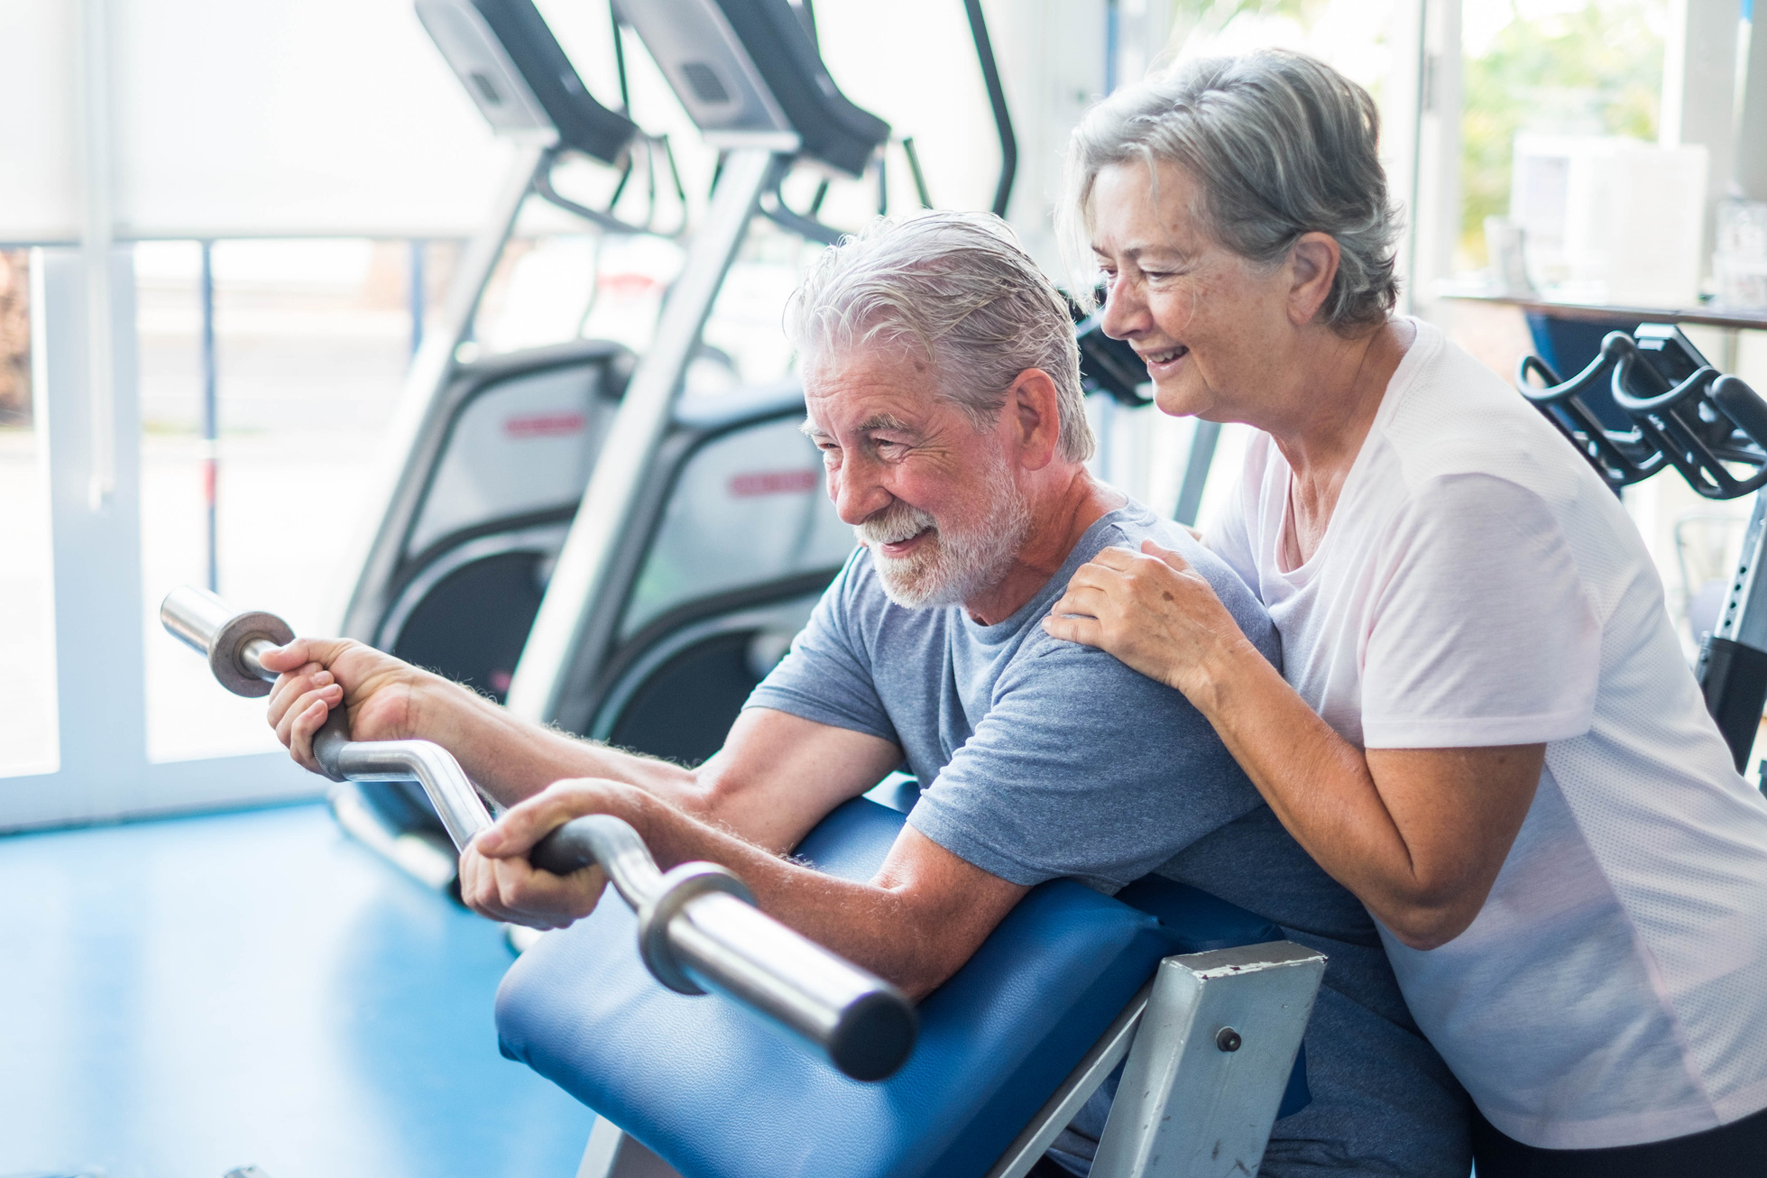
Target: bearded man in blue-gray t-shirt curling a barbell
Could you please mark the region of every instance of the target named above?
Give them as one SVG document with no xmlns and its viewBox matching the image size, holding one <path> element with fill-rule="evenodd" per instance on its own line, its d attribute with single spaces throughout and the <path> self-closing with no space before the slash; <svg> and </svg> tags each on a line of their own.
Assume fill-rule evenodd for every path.
<svg viewBox="0 0 1767 1178">
<path fill-rule="evenodd" d="M 599 871 L 558 878 L 523 853 L 606 812 L 664 867 L 726 864 L 769 913 L 915 998 L 1044 880 L 1115 892 L 1157 871 L 1202 887 L 1331 955 L 1308 1035 L 1315 1100 L 1278 1121 L 1263 1173 L 1463 1178 L 1465 1099 L 1412 1026 L 1362 906 L 1179 692 L 1039 625 L 1099 549 L 1154 539 L 1276 657 L 1269 620 L 1217 558 L 1087 473 L 1066 306 L 1011 231 L 954 214 L 882 223 L 822 256 L 788 320 L 806 433 L 861 547 L 717 756 L 682 768 L 574 740 L 357 643 L 302 639 L 265 657 L 284 671 L 270 721 L 295 758 L 313 765 L 339 701 L 359 740 L 452 751 L 512 807 L 461 857 L 463 895 L 488 917 L 587 915 Z M 876 878 L 783 857 L 903 765 L 921 797 Z M 1085 1134 L 1067 1146 L 1085 1173 Z"/>
</svg>

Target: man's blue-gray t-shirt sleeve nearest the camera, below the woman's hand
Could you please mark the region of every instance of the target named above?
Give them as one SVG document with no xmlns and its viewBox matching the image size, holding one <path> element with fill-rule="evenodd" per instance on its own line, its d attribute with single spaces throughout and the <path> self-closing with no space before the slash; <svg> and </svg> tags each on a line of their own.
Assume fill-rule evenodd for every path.
<svg viewBox="0 0 1767 1178">
<path fill-rule="evenodd" d="M 1115 892 L 1258 805 L 1184 696 L 1101 650 L 1032 641 L 922 789 L 915 830 L 1011 883 Z"/>
</svg>

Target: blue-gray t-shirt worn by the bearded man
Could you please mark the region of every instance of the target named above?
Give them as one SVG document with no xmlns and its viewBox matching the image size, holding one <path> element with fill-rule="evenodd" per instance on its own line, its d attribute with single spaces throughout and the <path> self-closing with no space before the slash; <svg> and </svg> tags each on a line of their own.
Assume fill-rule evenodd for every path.
<svg viewBox="0 0 1767 1178">
<path fill-rule="evenodd" d="M 1276 1123 L 1263 1174 L 1444 1174 L 1470 1167 L 1465 1093 L 1422 1040 L 1368 911 L 1258 797 L 1209 721 L 1115 657 L 1044 634 L 1074 570 L 1150 539 L 1209 579 L 1246 636 L 1278 638 L 1239 578 L 1140 503 L 1108 512 L 1018 613 L 905 609 L 857 549 L 749 696 L 903 751 L 921 782 L 908 823 L 1012 883 L 1076 878 L 1117 892 L 1157 872 L 1320 948 L 1331 964 L 1308 1028 L 1313 1104 Z"/>
</svg>

